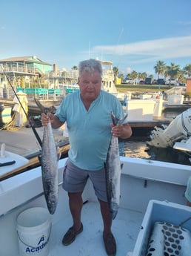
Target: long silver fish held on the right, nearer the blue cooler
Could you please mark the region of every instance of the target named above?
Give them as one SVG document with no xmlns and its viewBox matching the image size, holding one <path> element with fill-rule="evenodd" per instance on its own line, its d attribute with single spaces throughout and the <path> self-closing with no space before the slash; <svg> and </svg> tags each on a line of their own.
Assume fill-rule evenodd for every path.
<svg viewBox="0 0 191 256">
<path fill-rule="evenodd" d="M 127 114 L 122 119 L 117 119 L 111 111 L 111 116 L 114 125 L 120 125 L 127 118 Z M 119 151 L 118 151 L 118 137 L 112 135 L 110 146 L 107 152 L 107 160 L 105 163 L 106 172 L 106 186 L 107 186 L 107 200 L 110 206 L 110 213 L 115 219 L 118 213 L 118 206 L 120 201 L 120 180 L 121 168 Z"/>
</svg>

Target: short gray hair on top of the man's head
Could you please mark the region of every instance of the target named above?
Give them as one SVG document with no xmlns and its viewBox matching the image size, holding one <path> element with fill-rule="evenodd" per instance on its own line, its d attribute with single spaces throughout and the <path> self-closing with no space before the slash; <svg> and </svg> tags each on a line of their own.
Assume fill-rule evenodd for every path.
<svg viewBox="0 0 191 256">
<path fill-rule="evenodd" d="M 101 62 L 96 59 L 84 60 L 82 62 L 79 62 L 78 71 L 79 71 L 79 76 L 81 76 L 81 73 L 83 71 L 87 71 L 88 73 L 93 73 L 95 71 L 98 71 L 100 73 L 100 76 L 102 76 Z"/>
</svg>

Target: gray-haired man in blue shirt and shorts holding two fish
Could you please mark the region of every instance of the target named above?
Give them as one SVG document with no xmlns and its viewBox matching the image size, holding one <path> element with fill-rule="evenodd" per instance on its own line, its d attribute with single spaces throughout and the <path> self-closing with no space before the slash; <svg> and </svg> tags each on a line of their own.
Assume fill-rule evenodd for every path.
<svg viewBox="0 0 191 256">
<path fill-rule="evenodd" d="M 85 60 L 80 62 L 78 71 L 80 90 L 68 94 L 55 115 L 41 116 L 42 125 L 51 122 L 53 128 L 67 122 L 69 134 L 70 151 L 64 168 L 63 188 L 68 192 L 73 226 L 64 235 L 62 243 L 65 246 L 73 243 L 76 235 L 83 231 L 81 194 L 90 177 L 101 207 L 105 249 L 107 255 L 113 256 L 116 243 L 111 232 L 112 217 L 107 203 L 104 163 L 111 135 L 126 139 L 131 136 L 132 130 L 127 120 L 124 125 L 112 125 L 110 112 L 113 111 L 121 119 L 124 111 L 113 94 L 101 91 L 101 62 Z"/>
</svg>

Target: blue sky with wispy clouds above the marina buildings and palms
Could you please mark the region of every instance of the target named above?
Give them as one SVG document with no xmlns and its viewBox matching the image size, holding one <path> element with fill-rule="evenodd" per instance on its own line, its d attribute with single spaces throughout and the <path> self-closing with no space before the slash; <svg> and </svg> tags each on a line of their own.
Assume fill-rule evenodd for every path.
<svg viewBox="0 0 191 256">
<path fill-rule="evenodd" d="M 190 0 L 1 0 L 0 59 L 38 56 L 71 69 L 89 58 L 121 73 L 191 63 Z"/>
</svg>

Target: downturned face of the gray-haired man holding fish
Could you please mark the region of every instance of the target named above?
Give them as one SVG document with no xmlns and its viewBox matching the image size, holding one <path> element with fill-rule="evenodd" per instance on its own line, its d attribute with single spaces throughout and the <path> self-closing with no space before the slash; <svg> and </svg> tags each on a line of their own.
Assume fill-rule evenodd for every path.
<svg viewBox="0 0 191 256">
<path fill-rule="evenodd" d="M 82 99 L 95 100 L 101 91 L 101 76 L 98 71 L 88 73 L 83 71 L 78 79 Z"/>
</svg>

